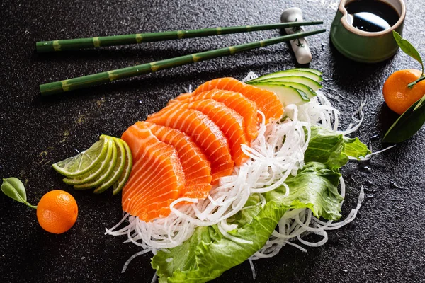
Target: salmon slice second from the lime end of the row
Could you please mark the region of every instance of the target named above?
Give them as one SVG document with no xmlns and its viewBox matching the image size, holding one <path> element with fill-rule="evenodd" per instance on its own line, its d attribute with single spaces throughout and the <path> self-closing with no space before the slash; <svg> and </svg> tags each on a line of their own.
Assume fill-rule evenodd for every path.
<svg viewBox="0 0 425 283">
<path fill-rule="evenodd" d="M 180 192 L 180 197 L 194 197 L 205 199 L 211 190 L 211 166 L 207 156 L 191 137 L 170 127 L 160 126 L 145 121 L 136 122 L 131 126 L 136 131 L 149 130 L 160 141 L 174 146 L 181 167 L 183 168 L 186 183 Z"/>
</svg>

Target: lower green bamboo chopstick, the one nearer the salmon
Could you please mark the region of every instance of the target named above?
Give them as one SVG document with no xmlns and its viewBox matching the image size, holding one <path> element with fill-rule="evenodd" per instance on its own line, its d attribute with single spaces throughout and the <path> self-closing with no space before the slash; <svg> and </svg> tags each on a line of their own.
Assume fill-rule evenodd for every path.
<svg viewBox="0 0 425 283">
<path fill-rule="evenodd" d="M 89 76 L 80 76 L 74 79 L 67 79 L 64 81 L 55 81 L 53 83 L 45 83 L 40 85 L 40 92 L 42 96 L 50 96 L 55 93 L 62 93 L 66 91 L 73 91 L 78 88 L 86 88 L 88 86 L 94 86 L 100 83 L 106 83 L 109 81 L 116 81 L 118 79 L 130 78 L 132 76 L 138 76 L 141 74 L 148 74 L 162 69 L 169 69 L 172 67 L 178 67 L 186 64 L 200 62 L 208 59 L 217 57 L 223 57 L 232 55 L 237 52 L 246 50 L 253 50 L 259 47 L 265 47 L 268 45 L 275 45 L 280 42 L 289 40 L 295 40 L 300 37 L 307 37 L 309 35 L 316 35 L 318 33 L 324 33 L 326 30 L 312 30 L 305 33 L 295 33 L 293 35 L 284 35 L 280 37 L 274 37 L 267 40 L 261 40 L 257 42 L 249 42 L 242 45 L 234 45 L 231 47 L 220 48 L 217 50 L 210 50 L 195 54 L 188 54 L 181 57 L 175 57 L 171 59 L 164 59 L 157 62 L 141 64 L 134 67 L 127 67 L 123 69 L 116 69 L 113 71 L 104 71 L 98 74 L 91 74 Z"/>
</svg>

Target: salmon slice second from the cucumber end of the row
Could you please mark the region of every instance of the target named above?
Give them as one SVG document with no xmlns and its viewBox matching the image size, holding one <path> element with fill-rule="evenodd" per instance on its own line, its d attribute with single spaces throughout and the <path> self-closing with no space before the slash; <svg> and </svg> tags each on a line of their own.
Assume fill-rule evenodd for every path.
<svg viewBox="0 0 425 283">
<path fill-rule="evenodd" d="M 197 100 L 212 99 L 223 103 L 228 108 L 236 111 L 244 118 L 245 134 L 249 141 L 255 139 L 259 134 L 258 117 L 256 104 L 242 95 L 234 91 L 223 91 L 221 89 L 213 89 L 204 91 L 193 96 L 191 93 L 183 93 L 174 100 L 170 100 L 169 105 L 173 103 L 190 103 Z"/>
</svg>

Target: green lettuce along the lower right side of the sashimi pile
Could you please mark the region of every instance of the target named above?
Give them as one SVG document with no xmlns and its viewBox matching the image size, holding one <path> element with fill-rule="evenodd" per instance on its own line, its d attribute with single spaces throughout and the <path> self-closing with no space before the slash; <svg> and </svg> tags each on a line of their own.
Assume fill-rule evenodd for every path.
<svg viewBox="0 0 425 283">
<path fill-rule="evenodd" d="M 358 139 L 312 127 L 305 167 L 285 181 L 290 194 L 285 196 L 285 187 L 266 192 L 263 207 L 260 195 L 251 195 L 245 209 L 228 220 L 237 224 L 237 229 L 228 233 L 242 242 L 225 238 L 217 225 L 212 225 L 196 228 L 188 241 L 169 252 L 159 251 L 152 258 L 159 282 L 207 282 L 219 277 L 262 248 L 290 209 L 308 208 L 316 217 L 339 219 L 339 168 L 346 164 L 348 155 L 358 157 L 367 152 Z"/>
</svg>

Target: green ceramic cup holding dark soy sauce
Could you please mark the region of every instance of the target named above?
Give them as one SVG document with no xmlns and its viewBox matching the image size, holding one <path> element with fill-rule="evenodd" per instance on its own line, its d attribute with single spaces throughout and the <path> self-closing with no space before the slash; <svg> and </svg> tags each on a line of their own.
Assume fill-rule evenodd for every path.
<svg viewBox="0 0 425 283">
<path fill-rule="evenodd" d="M 353 15 L 357 18 L 359 13 L 378 16 L 386 24 L 373 17 L 374 20 L 368 18 L 368 25 L 355 26 Z M 340 0 L 331 24 L 331 42 L 336 50 L 354 61 L 382 62 L 399 50 L 392 31 L 402 35 L 405 18 L 404 0 Z"/>
</svg>

